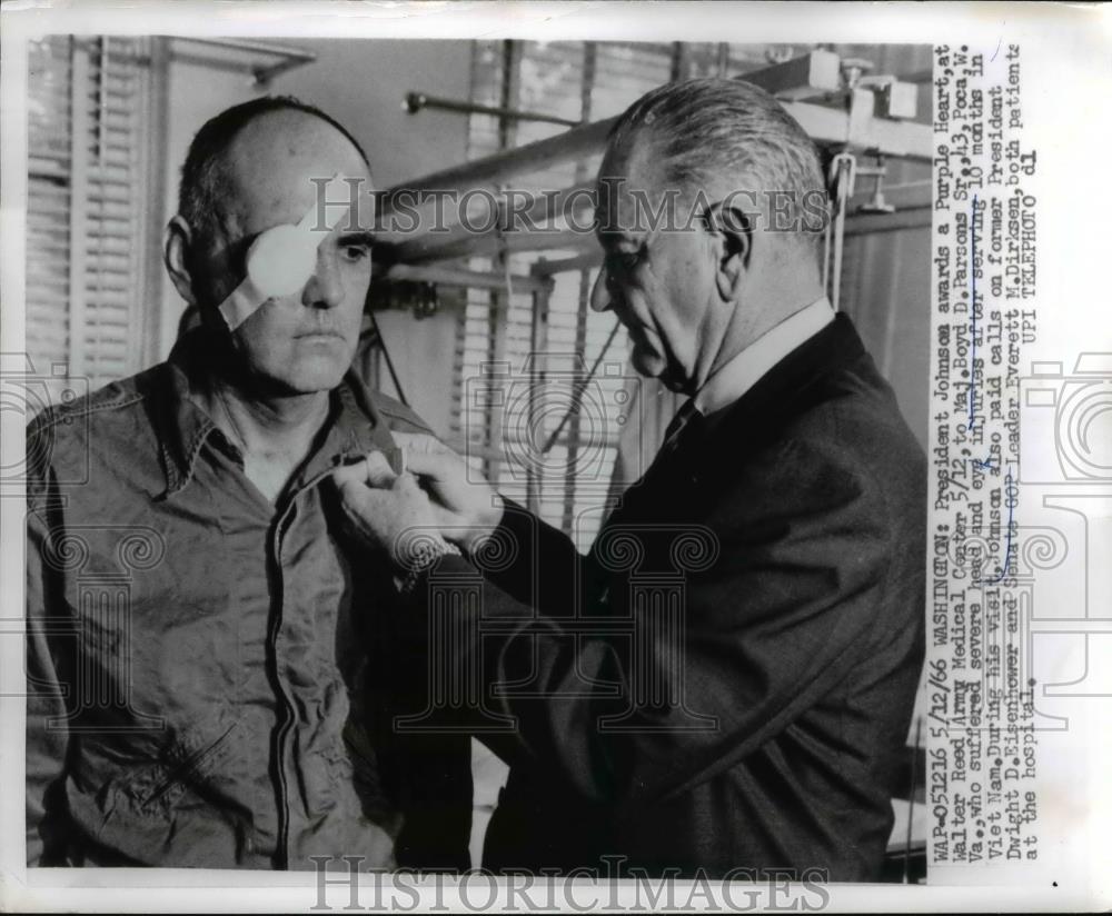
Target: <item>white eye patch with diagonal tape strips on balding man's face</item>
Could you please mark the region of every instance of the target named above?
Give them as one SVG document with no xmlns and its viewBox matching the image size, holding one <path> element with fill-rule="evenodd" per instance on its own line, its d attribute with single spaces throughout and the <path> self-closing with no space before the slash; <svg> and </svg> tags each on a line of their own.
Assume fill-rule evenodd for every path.
<svg viewBox="0 0 1112 916">
<path fill-rule="evenodd" d="M 332 176 L 324 187 L 324 206 L 314 201 L 296 226 L 272 226 L 251 242 L 247 276 L 220 303 L 229 330 L 236 330 L 268 299 L 292 296 L 309 282 L 317 269 L 318 246 L 351 211 L 351 188 L 344 176 Z M 317 189 L 319 193 L 319 185 Z M 341 195 L 342 201 L 337 199 Z M 335 218 L 328 218 L 329 210 Z"/>
</svg>

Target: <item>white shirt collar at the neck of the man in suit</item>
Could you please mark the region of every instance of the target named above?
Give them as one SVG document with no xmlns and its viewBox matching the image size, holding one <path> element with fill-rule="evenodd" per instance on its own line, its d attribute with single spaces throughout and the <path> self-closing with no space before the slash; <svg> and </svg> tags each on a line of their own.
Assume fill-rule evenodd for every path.
<svg viewBox="0 0 1112 916">
<path fill-rule="evenodd" d="M 705 417 L 728 407 L 833 320 L 834 309 L 825 296 L 785 318 L 721 366 L 695 394 L 695 408 Z"/>
</svg>

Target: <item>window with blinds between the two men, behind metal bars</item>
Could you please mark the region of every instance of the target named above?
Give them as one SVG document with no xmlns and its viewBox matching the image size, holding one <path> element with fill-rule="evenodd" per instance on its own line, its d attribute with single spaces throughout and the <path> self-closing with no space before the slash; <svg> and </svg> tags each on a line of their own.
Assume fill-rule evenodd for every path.
<svg viewBox="0 0 1112 916">
<path fill-rule="evenodd" d="M 519 108 L 572 120 L 617 113 L 638 96 L 665 82 L 671 72 L 671 46 L 609 46 L 592 42 L 476 42 L 471 99 L 483 104 Z M 602 79 L 596 78 L 596 73 Z M 559 125 L 520 121 L 499 129 L 496 118 L 473 116 L 469 156 L 554 136 Z M 597 160 L 569 162 L 525 176 L 516 187 L 558 190 L 589 181 Z M 588 242 L 589 248 L 589 242 Z M 583 253 L 549 250 L 555 261 Z M 513 273 L 528 273 L 542 256 L 510 255 Z M 476 260 L 475 269 L 503 270 L 506 261 Z M 459 325 L 455 434 L 470 456 L 481 458 L 490 480 L 508 496 L 529 498 L 546 521 L 563 528 L 586 549 L 603 519 L 618 435 L 627 418 L 628 339 L 612 313 L 590 311 L 588 298 L 597 269 L 557 273 L 547 301 L 530 295 L 470 291 Z M 538 307 L 547 306 L 544 315 Z M 539 347 L 537 346 L 539 344 Z M 534 350 L 547 354 L 544 381 L 523 378 Z M 605 354 L 605 356 L 604 356 Z M 598 371 L 584 387 L 589 370 Z M 529 417 L 520 409 L 477 411 L 467 402 L 484 366 L 504 364 L 510 385 L 532 387 L 540 401 Z M 636 382 L 635 382 L 636 384 Z M 519 388 L 517 389 L 519 390 Z M 515 389 L 503 404 L 519 408 Z M 572 407 L 576 409 L 569 409 Z M 500 414 L 500 416 L 499 416 Z M 549 446 L 544 455 L 539 452 Z M 529 466 L 539 465 L 539 474 Z"/>
</svg>

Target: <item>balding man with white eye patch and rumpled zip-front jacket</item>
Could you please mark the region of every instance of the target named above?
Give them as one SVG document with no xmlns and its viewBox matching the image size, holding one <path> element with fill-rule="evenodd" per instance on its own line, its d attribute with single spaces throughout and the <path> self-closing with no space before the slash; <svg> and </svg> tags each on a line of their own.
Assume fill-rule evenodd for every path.
<svg viewBox="0 0 1112 916">
<path fill-rule="evenodd" d="M 468 865 L 467 740 L 393 734 L 393 570 L 327 486 L 428 430 L 350 370 L 369 182 L 311 106 L 215 117 L 166 236 L 199 327 L 29 427 L 31 864 Z"/>
</svg>

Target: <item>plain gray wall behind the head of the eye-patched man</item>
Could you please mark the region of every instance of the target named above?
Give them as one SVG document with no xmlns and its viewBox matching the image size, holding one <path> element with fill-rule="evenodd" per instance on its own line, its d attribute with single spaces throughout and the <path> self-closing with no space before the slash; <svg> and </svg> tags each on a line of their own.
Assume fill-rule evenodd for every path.
<svg viewBox="0 0 1112 916">
<path fill-rule="evenodd" d="M 317 54 L 314 63 L 274 80 L 267 91 L 317 104 L 359 140 L 378 187 L 389 187 L 466 158 L 467 119 L 447 112 L 401 109 L 406 92 L 467 98 L 470 43 L 304 39 L 284 42 Z M 226 57 L 225 52 L 220 52 Z M 178 177 L 189 141 L 214 114 L 258 94 L 244 72 L 218 69 L 197 44 L 178 44 L 169 67 L 167 181 L 163 218 L 177 211 Z M 159 303 L 159 358 L 173 345 L 185 303 L 163 277 Z M 409 312 L 378 313 L 383 337 L 410 404 L 441 435 L 450 406 L 456 316 L 416 320 Z"/>
</svg>

